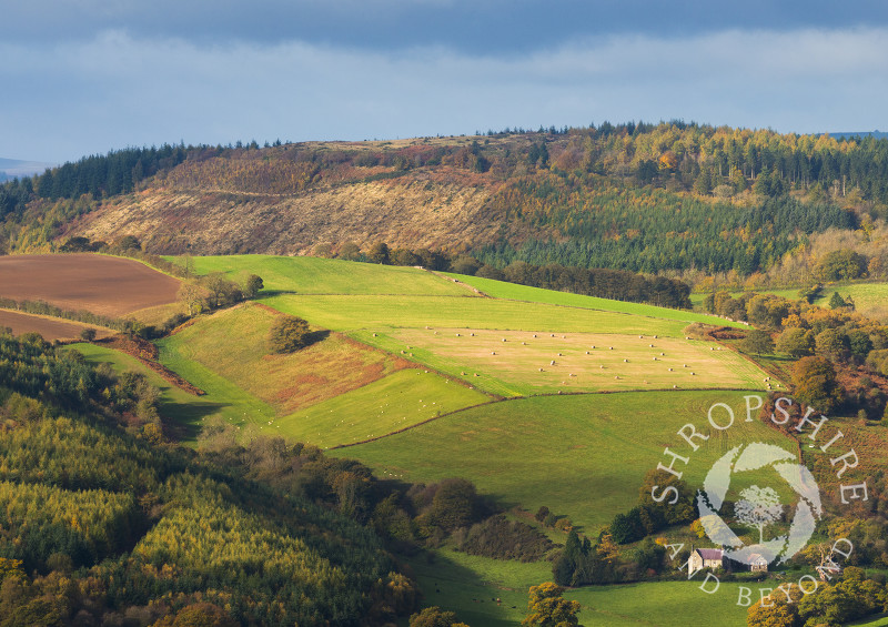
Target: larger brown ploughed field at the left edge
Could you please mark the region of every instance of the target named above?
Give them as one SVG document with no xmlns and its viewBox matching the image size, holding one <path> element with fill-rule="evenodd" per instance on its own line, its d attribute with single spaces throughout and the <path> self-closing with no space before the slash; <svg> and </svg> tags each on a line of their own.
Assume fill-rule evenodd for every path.
<svg viewBox="0 0 888 627">
<path fill-rule="evenodd" d="M 0 256 L 0 296 L 111 317 L 175 302 L 179 284 L 128 259 L 89 253 Z"/>
</svg>

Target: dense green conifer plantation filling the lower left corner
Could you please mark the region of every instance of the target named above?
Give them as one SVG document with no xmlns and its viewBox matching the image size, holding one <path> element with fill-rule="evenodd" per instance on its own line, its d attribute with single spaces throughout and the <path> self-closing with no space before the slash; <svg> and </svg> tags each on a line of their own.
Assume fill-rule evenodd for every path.
<svg viewBox="0 0 888 627">
<path fill-rule="evenodd" d="M 297 483 L 251 478 L 256 456 L 233 468 L 163 444 L 138 376 L 34 335 L 0 334 L 0 625 L 198 610 L 218 625 L 375 625 L 414 609 L 370 527 Z"/>
</svg>

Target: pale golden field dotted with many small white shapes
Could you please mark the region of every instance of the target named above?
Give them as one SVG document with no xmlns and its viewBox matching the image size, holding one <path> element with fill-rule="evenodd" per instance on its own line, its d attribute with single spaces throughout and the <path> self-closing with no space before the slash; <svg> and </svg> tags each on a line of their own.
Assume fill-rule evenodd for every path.
<svg viewBox="0 0 888 627">
<path fill-rule="evenodd" d="M 501 396 L 674 386 L 761 390 L 767 376 L 714 342 L 675 337 L 438 327 L 352 336 Z"/>
</svg>

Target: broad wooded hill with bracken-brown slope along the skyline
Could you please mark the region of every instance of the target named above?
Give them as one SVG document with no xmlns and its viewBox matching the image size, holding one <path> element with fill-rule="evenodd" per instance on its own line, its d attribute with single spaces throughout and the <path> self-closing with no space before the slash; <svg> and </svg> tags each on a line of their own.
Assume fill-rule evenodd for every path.
<svg viewBox="0 0 888 627">
<path fill-rule="evenodd" d="M 127 231 L 154 253 L 385 241 L 500 269 L 524 261 L 749 276 L 808 254 L 815 234 L 878 227 L 887 206 L 885 139 L 603 123 L 124 149 L 3 184 L 0 247 L 48 251 L 70 235 L 111 243 Z"/>
</svg>

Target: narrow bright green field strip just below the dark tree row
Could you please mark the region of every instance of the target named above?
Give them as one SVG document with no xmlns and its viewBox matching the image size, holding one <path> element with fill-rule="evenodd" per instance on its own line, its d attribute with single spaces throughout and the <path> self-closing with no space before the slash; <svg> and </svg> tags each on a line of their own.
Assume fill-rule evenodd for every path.
<svg viewBox="0 0 888 627">
<path fill-rule="evenodd" d="M 488 296 L 494 299 L 505 299 L 509 301 L 524 301 L 527 303 L 545 303 L 548 305 L 562 305 L 566 307 L 581 307 L 586 310 L 601 310 L 608 312 L 627 313 L 657 317 L 662 320 L 676 320 L 690 324 L 702 322 L 704 324 L 715 324 L 724 326 L 743 327 L 740 323 L 730 322 L 718 316 L 696 313 L 685 310 L 670 310 L 658 307 L 645 303 L 627 303 L 625 301 L 612 301 L 609 299 L 598 299 L 596 296 L 584 296 L 569 292 L 557 292 L 555 290 L 543 290 L 542 287 L 531 287 L 528 285 L 517 285 L 505 281 L 494 281 L 481 276 L 466 276 L 464 274 L 443 273 L 446 276 L 457 279 L 467 285 L 477 287 Z M 692 300 L 693 302 L 693 300 Z"/>
</svg>

